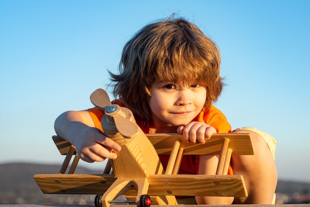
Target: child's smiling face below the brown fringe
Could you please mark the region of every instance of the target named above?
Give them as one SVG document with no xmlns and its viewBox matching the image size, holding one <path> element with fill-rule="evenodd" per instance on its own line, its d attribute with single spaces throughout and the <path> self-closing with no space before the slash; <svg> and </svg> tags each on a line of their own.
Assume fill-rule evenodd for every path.
<svg viewBox="0 0 310 207">
<path fill-rule="evenodd" d="M 207 90 L 192 83 L 171 83 L 156 80 L 151 87 L 149 100 L 154 127 L 181 126 L 190 123 L 205 105 Z"/>
</svg>

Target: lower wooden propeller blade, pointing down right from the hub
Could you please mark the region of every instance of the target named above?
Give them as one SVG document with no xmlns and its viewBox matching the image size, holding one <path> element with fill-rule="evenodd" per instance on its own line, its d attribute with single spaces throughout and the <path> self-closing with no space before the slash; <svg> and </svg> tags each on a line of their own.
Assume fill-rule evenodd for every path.
<svg viewBox="0 0 310 207">
<path fill-rule="evenodd" d="M 131 138 L 138 133 L 138 127 L 121 115 L 113 116 L 116 129 L 125 138 Z"/>
</svg>

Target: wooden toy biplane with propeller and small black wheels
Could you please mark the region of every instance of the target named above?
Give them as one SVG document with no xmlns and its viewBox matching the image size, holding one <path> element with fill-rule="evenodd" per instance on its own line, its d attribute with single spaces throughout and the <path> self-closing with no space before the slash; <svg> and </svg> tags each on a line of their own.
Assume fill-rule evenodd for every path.
<svg viewBox="0 0 310 207">
<path fill-rule="evenodd" d="M 91 102 L 105 111 L 101 120 L 104 134 L 122 150 L 108 161 L 103 174 L 73 174 L 78 155 L 65 174 L 75 148 L 53 136 L 66 158 L 59 174 L 34 176 L 43 193 L 94 194 L 96 207 L 109 207 L 120 195 L 139 207 L 177 205 L 175 196 L 248 196 L 243 176 L 227 175 L 227 171 L 231 155 L 254 155 L 250 134 L 214 134 L 204 145 L 187 143 L 181 134 L 144 134 L 132 112 L 111 104 L 102 89 L 91 95 Z M 170 154 L 165 170 L 160 154 Z M 177 174 L 182 155 L 220 155 L 216 175 Z M 111 166 L 113 174 L 109 174 Z"/>
</svg>

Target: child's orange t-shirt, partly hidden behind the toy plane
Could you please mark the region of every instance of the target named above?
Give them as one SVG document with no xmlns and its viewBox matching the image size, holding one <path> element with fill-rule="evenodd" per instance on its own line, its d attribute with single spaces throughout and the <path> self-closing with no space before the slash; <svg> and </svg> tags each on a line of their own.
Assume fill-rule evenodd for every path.
<svg viewBox="0 0 310 207">
<path fill-rule="evenodd" d="M 112 102 L 112 104 L 120 104 L 118 100 Z M 121 104 L 120 104 L 121 105 Z M 104 111 L 99 108 L 90 108 L 88 109 L 96 128 L 103 131 L 101 126 L 101 119 L 104 115 Z M 205 122 L 208 125 L 214 127 L 217 133 L 230 133 L 231 126 L 227 122 L 225 115 L 218 110 L 216 107 L 211 105 L 210 109 L 203 110 L 198 114 L 198 116 L 193 121 Z M 136 119 L 137 124 L 140 126 L 142 131 L 146 134 L 150 133 L 149 122 L 145 122 L 143 118 Z M 158 155 L 160 161 L 165 168 L 167 166 L 169 155 Z M 183 155 L 179 174 L 198 174 L 199 166 L 199 155 Z M 228 174 L 233 174 L 231 166 L 229 166 Z"/>
</svg>

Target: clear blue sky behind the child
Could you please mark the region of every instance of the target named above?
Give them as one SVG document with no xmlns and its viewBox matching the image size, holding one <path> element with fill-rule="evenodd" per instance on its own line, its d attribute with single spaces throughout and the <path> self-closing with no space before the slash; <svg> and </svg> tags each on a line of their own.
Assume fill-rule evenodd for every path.
<svg viewBox="0 0 310 207">
<path fill-rule="evenodd" d="M 276 138 L 280 179 L 310 182 L 309 10 L 308 0 L 1 0 L 0 163 L 60 164 L 55 118 L 92 107 L 126 41 L 177 13 L 220 48 L 227 86 L 216 107 L 233 128 Z"/>
</svg>

